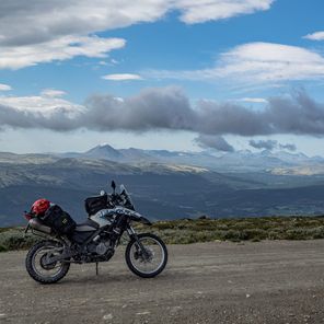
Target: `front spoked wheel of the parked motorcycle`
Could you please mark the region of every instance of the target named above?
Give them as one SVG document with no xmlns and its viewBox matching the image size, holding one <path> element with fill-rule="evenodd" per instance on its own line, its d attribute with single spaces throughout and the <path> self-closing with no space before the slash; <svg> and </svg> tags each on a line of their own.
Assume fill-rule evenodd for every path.
<svg viewBox="0 0 324 324">
<path fill-rule="evenodd" d="M 163 271 L 167 263 L 167 250 L 157 235 L 143 233 L 131 240 L 125 251 L 129 269 L 142 278 L 152 278 Z"/>
</svg>

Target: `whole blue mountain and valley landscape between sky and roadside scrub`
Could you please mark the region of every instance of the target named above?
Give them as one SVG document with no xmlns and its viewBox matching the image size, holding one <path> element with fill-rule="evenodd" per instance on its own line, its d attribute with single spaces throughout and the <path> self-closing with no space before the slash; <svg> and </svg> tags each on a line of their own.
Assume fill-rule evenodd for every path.
<svg viewBox="0 0 324 324">
<path fill-rule="evenodd" d="M 76 220 L 83 200 L 124 183 L 137 209 L 152 220 L 324 213 L 324 160 L 301 153 L 220 153 L 117 150 L 84 153 L 0 152 L 0 227 L 24 223 L 23 210 L 40 197 Z"/>
</svg>

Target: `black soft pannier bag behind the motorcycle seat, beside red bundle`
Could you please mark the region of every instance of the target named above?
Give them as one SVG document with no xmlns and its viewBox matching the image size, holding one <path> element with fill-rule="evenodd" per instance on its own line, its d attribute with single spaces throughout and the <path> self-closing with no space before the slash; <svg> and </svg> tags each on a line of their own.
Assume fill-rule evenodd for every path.
<svg viewBox="0 0 324 324">
<path fill-rule="evenodd" d="M 70 215 L 63 211 L 58 205 L 50 206 L 40 219 L 45 225 L 61 235 L 71 233 L 77 225 Z"/>
</svg>

